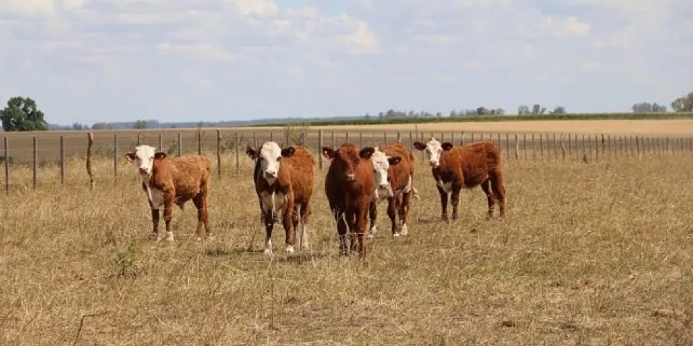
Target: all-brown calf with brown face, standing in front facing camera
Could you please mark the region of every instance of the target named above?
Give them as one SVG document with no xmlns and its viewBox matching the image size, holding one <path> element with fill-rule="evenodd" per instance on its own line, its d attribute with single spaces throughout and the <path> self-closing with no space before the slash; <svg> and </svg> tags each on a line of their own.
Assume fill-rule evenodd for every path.
<svg viewBox="0 0 693 346">
<path fill-rule="evenodd" d="M 351 238 L 351 251 L 365 255 L 363 235 L 375 192 L 373 163 L 370 160 L 374 151 L 372 147 L 359 151 L 351 143 L 344 143 L 336 150 L 332 147 L 322 148 L 322 154 L 331 159 L 325 177 L 325 193 L 337 223 L 340 249 L 345 256 L 349 255 L 347 233 Z"/>
</svg>

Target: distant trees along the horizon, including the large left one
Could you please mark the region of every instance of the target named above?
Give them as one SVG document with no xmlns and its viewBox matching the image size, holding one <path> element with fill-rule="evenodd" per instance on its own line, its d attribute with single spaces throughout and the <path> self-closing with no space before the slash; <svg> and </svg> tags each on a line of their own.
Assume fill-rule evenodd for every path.
<svg viewBox="0 0 693 346">
<path fill-rule="evenodd" d="M 672 109 L 675 112 L 691 112 L 693 111 L 693 91 L 683 95 L 680 98 L 676 98 L 671 103 Z M 666 113 L 667 107 L 657 102 L 640 102 L 633 104 L 631 107 L 633 113 Z M 530 108 L 528 105 L 520 105 L 518 107 L 518 116 L 525 115 L 560 115 L 567 113 L 565 107 L 555 107 L 552 111 L 547 113 L 546 107 L 542 107 L 541 104 L 533 104 Z M 476 109 L 462 109 L 462 110 L 452 110 L 448 113 L 448 117 L 455 118 L 461 116 L 502 116 L 505 115 L 505 110 L 502 108 L 493 107 L 477 107 Z M 430 112 L 430 111 L 397 111 L 394 109 L 388 109 L 387 111 L 381 111 L 376 116 L 371 116 L 367 113 L 363 116 L 365 120 L 386 120 L 393 118 L 443 118 L 442 112 Z M 7 101 L 7 106 L 0 110 L 0 120 L 2 121 L 2 127 L 4 131 L 45 131 L 49 129 L 49 124 L 45 120 L 44 113 L 38 109 L 36 102 L 31 98 L 24 98 L 21 96 L 15 96 Z M 132 123 L 132 129 L 149 129 L 149 128 L 161 128 L 161 124 L 157 120 L 137 120 L 134 122 L 125 122 L 125 124 Z M 122 128 L 116 127 L 114 122 L 96 122 L 91 128 L 89 125 L 83 125 L 78 122 L 73 123 L 71 126 L 67 127 L 51 127 L 50 129 L 67 129 L 67 130 L 88 130 L 88 129 L 115 129 Z M 122 124 L 122 123 L 121 123 Z M 189 123 L 185 123 L 189 125 Z M 204 126 L 204 122 L 198 122 L 198 127 Z M 170 127 L 170 125 L 169 125 Z M 175 127 L 175 125 L 173 126 Z"/>
</svg>

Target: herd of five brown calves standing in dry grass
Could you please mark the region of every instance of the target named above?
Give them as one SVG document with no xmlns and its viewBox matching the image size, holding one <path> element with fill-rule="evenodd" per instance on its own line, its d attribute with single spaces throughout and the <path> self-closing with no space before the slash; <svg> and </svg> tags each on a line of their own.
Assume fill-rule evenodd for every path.
<svg viewBox="0 0 693 346">
<path fill-rule="evenodd" d="M 431 138 L 428 143 L 414 143 L 424 152 L 431 166 L 441 201 L 441 217 L 448 219 L 448 197 L 452 217 L 457 219 L 459 192 L 462 188 L 481 185 L 489 202 L 489 217 L 498 203 L 500 217 L 505 215 L 505 187 L 500 165 L 500 150 L 493 142 L 455 146 Z M 315 159 L 304 147 L 281 148 L 267 142 L 260 148 L 247 147 L 246 154 L 255 161 L 253 179 L 265 224 L 265 254 L 272 254 L 272 228 L 281 219 L 286 232 L 286 251 L 294 251 L 295 233 L 303 249 L 308 249 L 308 216 L 315 180 Z M 342 255 L 365 253 L 365 230 L 368 237 L 376 233 L 377 203 L 387 199 L 387 215 L 392 221 L 392 235 L 407 235 L 407 213 L 410 200 L 419 198 L 414 188 L 414 155 L 400 142 L 384 147 L 364 147 L 344 143 L 336 149 L 323 147 L 322 155 L 331 160 L 325 177 L 325 192 L 337 225 Z M 125 154 L 134 163 L 142 189 L 152 210 L 152 237 L 173 241 L 171 216 L 173 204 L 182 208 L 193 200 L 198 210 L 198 239 L 202 228 L 213 237 L 207 214 L 207 194 L 211 164 L 203 156 L 168 158 L 154 147 L 141 145 Z M 164 209 L 166 234 L 159 233 L 159 210 Z M 347 235 L 351 244 L 347 244 Z"/>
</svg>

